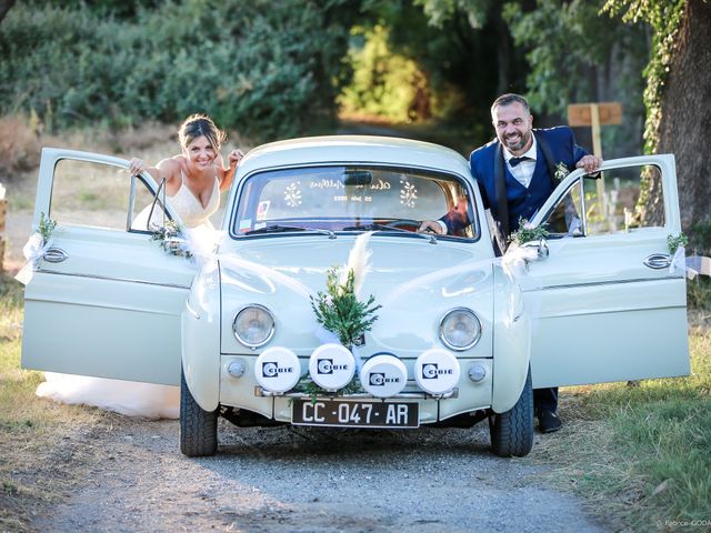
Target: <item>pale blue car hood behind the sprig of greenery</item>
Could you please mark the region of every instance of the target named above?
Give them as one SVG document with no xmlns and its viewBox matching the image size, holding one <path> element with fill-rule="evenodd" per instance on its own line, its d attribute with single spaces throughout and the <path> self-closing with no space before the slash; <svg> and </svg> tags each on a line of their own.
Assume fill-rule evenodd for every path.
<svg viewBox="0 0 711 533">
<path fill-rule="evenodd" d="M 222 251 L 218 255 L 222 351 L 244 351 L 232 334 L 232 321 L 244 305 L 258 303 L 267 306 L 277 322 L 269 345 L 310 354 L 324 341 L 310 296 L 326 291 L 327 270 L 342 269 L 354 242 L 342 235 L 290 235 L 254 239 Z M 474 310 L 484 332 L 491 331 L 493 258 L 478 257 L 471 243 L 430 244 L 424 239 L 375 234 L 363 250 L 368 268 L 359 298 L 364 301 L 372 294 L 381 305 L 378 321 L 365 335 L 370 350 L 417 356 L 423 349 L 441 345 L 439 322 L 457 306 Z M 363 270 L 363 253 L 353 254 L 360 255 L 359 270 Z"/>
</svg>

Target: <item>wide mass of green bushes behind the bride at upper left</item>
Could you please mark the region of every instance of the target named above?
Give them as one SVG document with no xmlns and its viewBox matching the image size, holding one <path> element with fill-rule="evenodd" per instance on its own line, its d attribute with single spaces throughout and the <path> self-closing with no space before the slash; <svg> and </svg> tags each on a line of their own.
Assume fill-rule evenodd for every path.
<svg viewBox="0 0 711 533">
<path fill-rule="evenodd" d="M 354 9 L 183 0 L 119 19 L 18 3 L 0 24 L 0 113 L 34 111 L 63 129 L 207 112 L 258 140 L 309 132 L 334 119 Z"/>
</svg>

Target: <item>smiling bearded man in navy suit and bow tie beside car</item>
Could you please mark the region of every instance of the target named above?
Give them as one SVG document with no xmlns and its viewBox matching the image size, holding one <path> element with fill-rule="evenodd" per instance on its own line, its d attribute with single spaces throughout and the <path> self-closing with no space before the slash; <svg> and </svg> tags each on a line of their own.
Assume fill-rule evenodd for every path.
<svg viewBox="0 0 711 533">
<path fill-rule="evenodd" d="M 529 103 L 519 94 L 497 98 L 491 105 L 491 118 L 497 139 L 471 152 L 469 162 L 484 208 L 491 210 L 505 241 L 511 232 L 519 229 L 519 221 L 530 220 L 553 192 L 555 168 L 560 163 L 569 171 L 583 168 L 592 173 L 602 165 L 602 159 L 575 144 L 573 132 L 568 127 L 534 130 Z M 452 211 L 438 221 L 422 222 L 420 231 L 430 230 L 438 234 L 459 231 L 457 207 Z M 555 414 L 557 388 L 535 389 L 533 408 L 542 433 L 560 430 L 561 422 Z"/>
</svg>

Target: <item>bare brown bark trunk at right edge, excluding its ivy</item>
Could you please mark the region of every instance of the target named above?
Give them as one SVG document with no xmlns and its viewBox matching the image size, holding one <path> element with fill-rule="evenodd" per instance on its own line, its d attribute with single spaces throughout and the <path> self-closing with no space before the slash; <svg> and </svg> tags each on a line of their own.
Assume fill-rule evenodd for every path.
<svg viewBox="0 0 711 533">
<path fill-rule="evenodd" d="M 711 242 L 699 239 L 711 233 L 707 139 L 711 124 L 711 2 L 687 2 L 678 39 L 662 101 L 657 152 L 675 154 L 681 225 L 692 245 L 708 251 Z"/>
</svg>

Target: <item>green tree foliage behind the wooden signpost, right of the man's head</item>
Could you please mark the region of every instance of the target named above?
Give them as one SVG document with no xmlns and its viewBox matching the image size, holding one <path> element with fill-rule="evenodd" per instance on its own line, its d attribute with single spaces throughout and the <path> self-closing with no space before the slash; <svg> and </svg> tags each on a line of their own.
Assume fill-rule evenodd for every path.
<svg viewBox="0 0 711 533">
<path fill-rule="evenodd" d="M 529 62 L 527 95 L 551 123 L 569 103 L 621 101 L 622 125 L 602 129 L 605 158 L 639 153 L 644 107 L 641 76 L 649 60 L 649 28 L 600 13 L 604 0 L 537 0 L 534 9 L 508 2 L 504 20 Z M 541 124 L 541 121 L 538 121 Z M 588 133 L 588 130 L 584 130 Z"/>
</svg>

